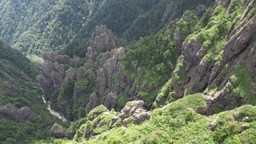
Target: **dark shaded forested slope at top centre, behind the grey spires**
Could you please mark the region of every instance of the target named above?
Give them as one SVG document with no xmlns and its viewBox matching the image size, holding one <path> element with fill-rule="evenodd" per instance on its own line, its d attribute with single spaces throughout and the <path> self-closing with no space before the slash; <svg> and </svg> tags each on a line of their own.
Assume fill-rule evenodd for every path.
<svg viewBox="0 0 256 144">
<path fill-rule="evenodd" d="M 138 40 L 157 33 L 170 20 L 181 17 L 198 4 L 209 7 L 214 0 L 106 0 L 81 29 L 78 38 L 90 36 L 96 25 L 107 25 L 124 40 Z M 110 21 L 111 20 L 111 21 Z"/>
</svg>

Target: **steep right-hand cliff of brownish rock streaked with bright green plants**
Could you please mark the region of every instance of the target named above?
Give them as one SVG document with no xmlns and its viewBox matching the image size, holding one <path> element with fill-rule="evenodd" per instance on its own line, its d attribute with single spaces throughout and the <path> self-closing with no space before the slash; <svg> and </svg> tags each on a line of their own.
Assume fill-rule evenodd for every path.
<svg viewBox="0 0 256 144">
<path fill-rule="evenodd" d="M 256 60 L 255 6 L 255 0 L 237 5 L 232 0 L 216 1 L 206 28 L 186 39 L 174 37 L 182 54 L 171 77 L 170 96 L 204 93 L 209 96 L 210 106 L 205 111 L 209 114 L 215 113 L 213 108 L 230 110 L 246 103 L 256 104 L 253 100 L 256 97 L 256 71 L 255 62 L 252 62 Z M 236 17 L 237 23 L 223 28 L 237 9 L 244 10 Z M 227 19 L 213 25 L 218 16 Z M 178 36 L 179 33 L 177 29 L 175 34 Z"/>
</svg>

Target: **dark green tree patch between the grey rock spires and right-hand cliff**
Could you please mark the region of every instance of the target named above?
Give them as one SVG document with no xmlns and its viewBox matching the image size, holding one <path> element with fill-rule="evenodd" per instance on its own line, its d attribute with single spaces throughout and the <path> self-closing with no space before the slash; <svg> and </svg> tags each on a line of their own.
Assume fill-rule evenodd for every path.
<svg viewBox="0 0 256 144">
<path fill-rule="evenodd" d="M 133 79 L 137 87 L 156 87 L 167 81 L 179 53 L 171 41 L 172 35 L 173 29 L 166 26 L 156 35 L 146 36 L 128 46 L 131 50 L 122 58 L 126 66 L 123 73 Z"/>
</svg>

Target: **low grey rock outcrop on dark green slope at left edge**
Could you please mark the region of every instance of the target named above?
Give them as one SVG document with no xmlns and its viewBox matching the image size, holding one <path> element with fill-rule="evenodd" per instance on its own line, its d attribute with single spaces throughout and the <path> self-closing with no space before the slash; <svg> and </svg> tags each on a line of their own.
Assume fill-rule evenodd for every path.
<svg viewBox="0 0 256 144">
<path fill-rule="evenodd" d="M 30 108 L 22 107 L 20 109 L 17 109 L 12 104 L 7 104 L 6 106 L 0 107 L 0 111 L 1 113 L 6 114 L 8 117 L 16 120 L 17 122 L 19 122 L 20 120 L 26 120 L 29 117 L 35 117 L 34 113 L 30 110 Z"/>
</svg>

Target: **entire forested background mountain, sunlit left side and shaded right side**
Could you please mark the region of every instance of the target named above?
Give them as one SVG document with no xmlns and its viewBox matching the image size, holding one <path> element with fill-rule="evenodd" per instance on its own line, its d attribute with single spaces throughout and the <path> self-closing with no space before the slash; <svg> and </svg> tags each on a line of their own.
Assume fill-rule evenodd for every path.
<svg viewBox="0 0 256 144">
<path fill-rule="evenodd" d="M 169 17 L 177 18 L 199 3 L 209 6 L 213 0 L 3 0 L 0 39 L 37 56 L 60 50 L 73 39 L 89 38 L 100 24 L 125 40 L 137 40 L 157 33 Z"/>
</svg>

